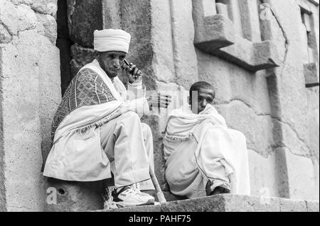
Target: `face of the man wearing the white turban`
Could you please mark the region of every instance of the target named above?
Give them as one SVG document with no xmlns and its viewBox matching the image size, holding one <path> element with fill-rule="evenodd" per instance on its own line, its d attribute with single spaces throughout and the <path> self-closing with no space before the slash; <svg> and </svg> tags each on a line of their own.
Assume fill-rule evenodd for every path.
<svg viewBox="0 0 320 226">
<path fill-rule="evenodd" d="M 108 77 L 112 79 L 117 77 L 119 69 L 124 63 L 126 53 L 119 51 L 97 52 L 96 57 L 100 67 L 107 73 Z"/>
</svg>

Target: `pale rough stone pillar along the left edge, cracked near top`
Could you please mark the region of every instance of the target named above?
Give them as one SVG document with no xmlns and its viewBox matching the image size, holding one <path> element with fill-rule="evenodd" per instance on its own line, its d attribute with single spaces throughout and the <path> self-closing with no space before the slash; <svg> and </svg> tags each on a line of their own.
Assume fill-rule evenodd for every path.
<svg viewBox="0 0 320 226">
<path fill-rule="evenodd" d="M 0 211 L 41 211 L 60 102 L 56 0 L 0 1 Z"/>
</svg>

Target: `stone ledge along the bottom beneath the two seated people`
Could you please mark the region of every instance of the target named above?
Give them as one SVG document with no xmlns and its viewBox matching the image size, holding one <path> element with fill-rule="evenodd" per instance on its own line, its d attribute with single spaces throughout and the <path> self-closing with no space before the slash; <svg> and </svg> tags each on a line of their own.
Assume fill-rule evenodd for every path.
<svg viewBox="0 0 320 226">
<path fill-rule="evenodd" d="M 319 201 L 223 194 L 90 212 L 319 212 Z"/>
</svg>

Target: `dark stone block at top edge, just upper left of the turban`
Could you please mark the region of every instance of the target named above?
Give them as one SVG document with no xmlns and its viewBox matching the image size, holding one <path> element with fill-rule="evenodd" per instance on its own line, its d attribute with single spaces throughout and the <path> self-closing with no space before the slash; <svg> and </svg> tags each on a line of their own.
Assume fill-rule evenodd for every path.
<svg viewBox="0 0 320 226">
<path fill-rule="evenodd" d="M 94 30 L 102 30 L 102 0 L 68 0 L 70 39 L 82 47 L 93 47 Z"/>
</svg>

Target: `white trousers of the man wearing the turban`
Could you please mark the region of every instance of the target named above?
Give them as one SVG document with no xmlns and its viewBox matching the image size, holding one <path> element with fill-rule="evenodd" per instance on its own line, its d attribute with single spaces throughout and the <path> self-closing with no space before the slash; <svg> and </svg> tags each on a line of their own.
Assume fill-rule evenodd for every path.
<svg viewBox="0 0 320 226">
<path fill-rule="evenodd" d="M 141 190 L 154 190 L 149 164 L 154 169 L 154 144 L 149 125 L 132 111 L 100 127 L 102 149 L 111 163 L 116 188 L 140 183 Z"/>
</svg>

